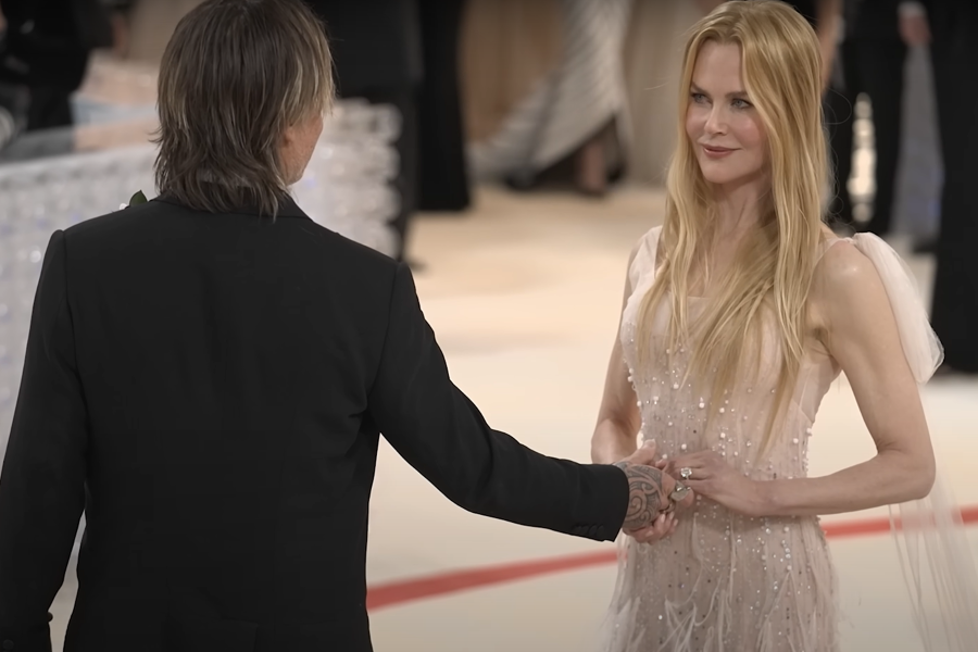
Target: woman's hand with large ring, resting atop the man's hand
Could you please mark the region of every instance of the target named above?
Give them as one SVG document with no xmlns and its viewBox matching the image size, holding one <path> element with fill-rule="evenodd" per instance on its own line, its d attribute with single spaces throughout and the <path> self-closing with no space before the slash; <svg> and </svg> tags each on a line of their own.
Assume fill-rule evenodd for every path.
<svg viewBox="0 0 978 652">
<path fill-rule="evenodd" d="M 745 516 L 769 515 L 766 484 L 738 473 L 718 453 L 701 451 L 680 455 L 666 464 L 665 472 L 731 512 Z"/>
</svg>

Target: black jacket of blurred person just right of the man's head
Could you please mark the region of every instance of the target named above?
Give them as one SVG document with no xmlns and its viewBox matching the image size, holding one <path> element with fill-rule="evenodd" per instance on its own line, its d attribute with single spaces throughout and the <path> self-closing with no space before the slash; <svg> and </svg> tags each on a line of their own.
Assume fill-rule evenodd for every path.
<svg viewBox="0 0 978 652">
<path fill-rule="evenodd" d="M 421 83 L 421 1 L 305 0 L 326 25 L 341 96 Z"/>
</svg>

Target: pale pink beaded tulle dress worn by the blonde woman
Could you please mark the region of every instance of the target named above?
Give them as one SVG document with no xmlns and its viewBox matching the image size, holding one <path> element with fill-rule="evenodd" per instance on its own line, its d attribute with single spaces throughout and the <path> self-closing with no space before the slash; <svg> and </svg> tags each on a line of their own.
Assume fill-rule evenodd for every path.
<svg viewBox="0 0 978 652">
<path fill-rule="evenodd" d="M 760 367 L 710 396 L 711 378 L 685 378 L 688 352 L 667 351 L 667 308 L 655 321 L 652 364 L 638 367 L 636 322 L 654 280 L 661 228 L 639 243 L 629 271 L 620 338 L 642 416 L 642 439 L 660 453 L 713 450 L 744 475 L 798 478 L 819 403 L 840 369 L 812 338 L 776 437 L 758 454 L 774 409 L 779 352 L 774 326 L 755 351 Z M 840 240 L 825 243 L 827 250 Z M 887 288 L 918 381 L 940 363 L 940 344 L 899 256 L 872 235 L 849 239 Z M 705 299 L 689 301 L 697 318 Z M 923 315 L 923 319 L 921 319 Z M 672 358 L 672 364 L 669 359 Z M 716 408 L 706 425 L 706 415 Z M 751 518 L 707 500 L 680 513 L 675 534 L 653 544 L 619 539 L 618 579 L 602 632 L 602 652 L 830 652 L 839 649 L 836 578 L 818 518 Z"/>
</svg>

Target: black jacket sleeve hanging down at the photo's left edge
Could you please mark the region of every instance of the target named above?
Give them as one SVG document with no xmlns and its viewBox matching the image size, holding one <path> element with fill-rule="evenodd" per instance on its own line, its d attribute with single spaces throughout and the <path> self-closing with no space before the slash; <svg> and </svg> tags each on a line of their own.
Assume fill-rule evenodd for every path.
<svg viewBox="0 0 978 652">
<path fill-rule="evenodd" d="M 55 231 L 0 474 L 0 649 L 17 652 L 51 649 L 48 610 L 85 505 L 87 413 L 66 283 L 64 234 Z"/>
</svg>

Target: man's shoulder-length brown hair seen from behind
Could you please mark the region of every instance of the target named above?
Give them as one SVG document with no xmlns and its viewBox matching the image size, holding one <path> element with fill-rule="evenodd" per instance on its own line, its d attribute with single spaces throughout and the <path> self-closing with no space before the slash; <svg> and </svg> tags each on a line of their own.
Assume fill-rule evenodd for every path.
<svg viewBox="0 0 978 652">
<path fill-rule="evenodd" d="M 288 195 L 281 137 L 334 95 L 325 29 L 301 0 L 206 0 L 160 66 L 160 192 L 201 211 L 275 215 Z"/>
</svg>

